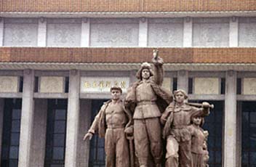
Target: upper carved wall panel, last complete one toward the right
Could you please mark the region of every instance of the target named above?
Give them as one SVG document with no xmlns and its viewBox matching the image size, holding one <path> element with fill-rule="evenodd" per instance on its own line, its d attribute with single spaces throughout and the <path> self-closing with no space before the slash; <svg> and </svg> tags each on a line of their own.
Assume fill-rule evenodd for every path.
<svg viewBox="0 0 256 167">
<path fill-rule="evenodd" d="M 193 46 L 228 46 L 228 18 L 193 19 Z"/>
</svg>

